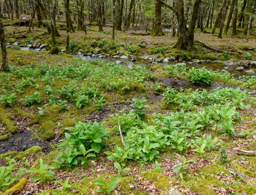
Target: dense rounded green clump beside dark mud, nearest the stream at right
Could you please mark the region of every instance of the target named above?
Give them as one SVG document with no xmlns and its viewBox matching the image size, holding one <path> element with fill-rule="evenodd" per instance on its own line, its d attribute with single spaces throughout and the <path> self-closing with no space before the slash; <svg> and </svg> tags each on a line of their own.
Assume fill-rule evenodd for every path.
<svg viewBox="0 0 256 195">
<path fill-rule="evenodd" d="M 211 72 L 205 67 L 201 69 L 195 69 L 195 67 L 192 67 L 188 72 L 188 80 L 197 85 L 211 85 L 212 77 Z"/>
</svg>

